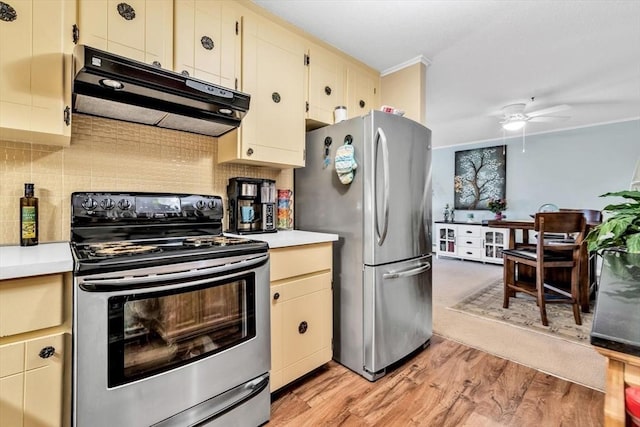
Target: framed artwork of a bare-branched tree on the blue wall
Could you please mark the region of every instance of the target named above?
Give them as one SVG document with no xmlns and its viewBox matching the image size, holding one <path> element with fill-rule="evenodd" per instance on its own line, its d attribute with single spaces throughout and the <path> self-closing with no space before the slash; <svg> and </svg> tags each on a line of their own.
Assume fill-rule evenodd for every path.
<svg viewBox="0 0 640 427">
<path fill-rule="evenodd" d="M 489 199 L 504 199 L 507 184 L 507 147 L 456 151 L 454 207 L 488 210 Z"/>
</svg>

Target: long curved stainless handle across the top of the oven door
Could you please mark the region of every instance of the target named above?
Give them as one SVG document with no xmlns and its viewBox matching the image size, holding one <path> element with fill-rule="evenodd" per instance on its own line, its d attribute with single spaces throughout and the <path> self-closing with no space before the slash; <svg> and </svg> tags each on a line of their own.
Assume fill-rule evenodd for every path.
<svg viewBox="0 0 640 427">
<path fill-rule="evenodd" d="M 162 274 L 152 274 L 145 276 L 124 276 L 114 279 L 101 279 L 98 277 L 93 277 L 86 282 L 82 283 L 80 286 L 84 290 L 88 291 L 98 291 L 103 287 L 111 288 L 111 287 L 128 287 L 133 288 L 139 286 L 140 284 L 152 285 L 158 282 L 167 282 L 167 281 L 178 281 L 178 280 L 189 280 L 189 279 L 198 279 L 202 276 L 211 276 L 222 275 L 227 272 L 242 270 L 246 271 L 251 269 L 254 266 L 262 265 L 269 260 L 269 254 L 260 255 L 252 258 L 244 258 L 240 261 L 225 263 L 222 265 L 217 265 L 214 267 L 205 267 L 205 268 L 193 268 L 185 271 L 178 271 L 174 273 L 162 273 Z"/>
</svg>

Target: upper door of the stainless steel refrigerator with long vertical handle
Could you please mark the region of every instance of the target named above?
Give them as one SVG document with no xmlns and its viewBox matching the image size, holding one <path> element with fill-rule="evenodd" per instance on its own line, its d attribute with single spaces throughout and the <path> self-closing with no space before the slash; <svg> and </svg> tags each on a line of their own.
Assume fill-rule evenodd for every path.
<svg viewBox="0 0 640 427">
<path fill-rule="evenodd" d="M 357 171 L 364 175 L 364 264 L 430 253 L 431 131 L 381 111 L 367 117 Z"/>
</svg>

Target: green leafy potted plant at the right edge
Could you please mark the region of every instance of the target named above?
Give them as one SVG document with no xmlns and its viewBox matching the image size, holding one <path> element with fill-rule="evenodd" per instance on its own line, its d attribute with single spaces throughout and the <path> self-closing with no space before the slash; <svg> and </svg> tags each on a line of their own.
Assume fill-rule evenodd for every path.
<svg viewBox="0 0 640 427">
<path fill-rule="evenodd" d="M 618 249 L 640 253 L 640 191 L 625 190 L 606 193 L 600 197 L 622 197 L 626 201 L 605 206 L 611 213 L 595 226 L 586 237 L 588 250 Z"/>
</svg>

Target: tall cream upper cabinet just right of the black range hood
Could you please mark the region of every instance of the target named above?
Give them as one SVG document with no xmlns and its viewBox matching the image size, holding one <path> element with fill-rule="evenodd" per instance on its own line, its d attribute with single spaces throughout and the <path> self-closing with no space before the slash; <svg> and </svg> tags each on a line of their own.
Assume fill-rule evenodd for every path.
<svg viewBox="0 0 640 427">
<path fill-rule="evenodd" d="M 249 112 L 235 132 L 218 140 L 218 162 L 304 166 L 304 40 L 245 11 L 242 88 Z"/>
</svg>

